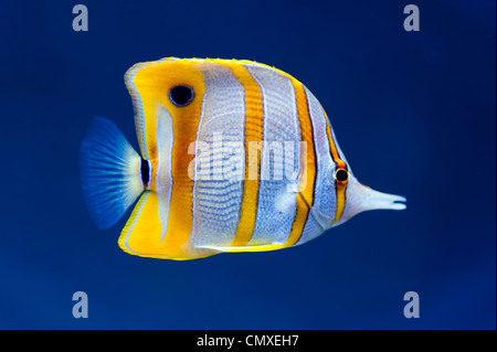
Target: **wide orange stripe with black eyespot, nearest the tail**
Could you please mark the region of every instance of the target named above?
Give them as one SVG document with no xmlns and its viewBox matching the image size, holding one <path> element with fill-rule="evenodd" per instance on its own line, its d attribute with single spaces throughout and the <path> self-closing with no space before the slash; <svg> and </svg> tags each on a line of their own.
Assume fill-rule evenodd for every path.
<svg viewBox="0 0 497 352">
<path fill-rule="evenodd" d="M 139 93 L 139 102 L 141 102 L 142 117 L 139 121 L 142 121 L 145 126 L 146 146 L 144 147 L 152 166 L 149 189 L 154 195 L 157 192 L 158 172 L 157 109 L 161 106 L 171 115 L 173 132 L 172 191 L 166 235 L 161 241 L 160 234 L 166 224 L 160 223 L 156 215 L 159 211 L 158 198 L 149 196 L 146 210 L 152 214 L 141 214 L 142 221 L 138 220 L 128 238 L 131 249 L 147 256 L 160 255 L 175 259 L 191 257 L 187 244 L 190 239 L 193 221 L 193 180 L 188 174 L 188 166 L 192 159 L 188 154 L 188 148 L 197 137 L 205 92 L 203 75 L 198 70 L 199 64 L 189 60 L 163 60 L 141 64 L 140 70 L 136 71 L 133 78 L 134 86 Z M 194 97 L 188 106 L 178 107 L 169 98 L 169 90 L 178 84 L 193 88 Z M 145 224 L 145 222 L 147 223 Z"/>
</svg>

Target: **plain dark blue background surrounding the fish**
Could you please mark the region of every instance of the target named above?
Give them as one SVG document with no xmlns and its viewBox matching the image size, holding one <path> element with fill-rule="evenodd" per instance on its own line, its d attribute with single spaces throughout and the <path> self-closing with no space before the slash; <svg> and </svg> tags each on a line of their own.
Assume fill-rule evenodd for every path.
<svg viewBox="0 0 497 352">
<path fill-rule="evenodd" d="M 2 1 L 2 329 L 496 328 L 495 1 Z M 96 115 L 136 147 L 124 73 L 246 58 L 304 82 L 360 181 L 408 198 L 296 248 L 192 262 L 97 231 L 78 149 Z M 127 216 L 126 216 L 127 217 Z M 72 295 L 89 298 L 74 319 Z M 403 316 L 404 292 L 421 318 Z"/>
</svg>

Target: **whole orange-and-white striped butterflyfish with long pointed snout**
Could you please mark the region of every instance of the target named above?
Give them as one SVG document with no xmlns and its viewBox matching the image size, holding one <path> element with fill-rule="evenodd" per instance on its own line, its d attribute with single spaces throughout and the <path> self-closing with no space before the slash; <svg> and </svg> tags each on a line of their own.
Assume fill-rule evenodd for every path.
<svg viewBox="0 0 497 352">
<path fill-rule="evenodd" d="M 278 68 L 166 57 L 135 64 L 125 83 L 140 153 L 95 117 L 80 164 L 98 228 L 136 202 L 118 238 L 128 254 L 187 260 L 288 248 L 358 213 L 406 207 L 356 179 L 321 104 Z"/>
</svg>

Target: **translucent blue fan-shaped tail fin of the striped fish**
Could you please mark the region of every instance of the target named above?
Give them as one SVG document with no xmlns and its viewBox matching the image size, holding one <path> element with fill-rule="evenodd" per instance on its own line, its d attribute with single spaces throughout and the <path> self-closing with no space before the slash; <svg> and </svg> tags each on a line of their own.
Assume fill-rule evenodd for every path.
<svg viewBox="0 0 497 352">
<path fill-rule="evenodd" d="M 95 224 L 108 228 L 144 192 L 141 158 L 110 120 L 96 117 L 80 154 L 83 196 Z"/>
</svg>

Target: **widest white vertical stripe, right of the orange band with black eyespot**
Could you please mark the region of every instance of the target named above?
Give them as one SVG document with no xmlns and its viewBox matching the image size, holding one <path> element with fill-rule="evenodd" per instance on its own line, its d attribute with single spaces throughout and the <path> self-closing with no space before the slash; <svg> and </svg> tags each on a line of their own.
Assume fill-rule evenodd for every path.
<svg viewBox="0 0 497 352">
<path fill-rule="evenodd" d="M 243 148 L 245 90 L 224 65 L 204 62 L 199 70 L 205 94 L 195 143 L 209 151 L 195 156 L 190 238 L 193 246 L 224 247 L 233 242 L 242 204 L 243 181 L 229 169 L 244 164 L 243 149 L 236 153 L 230 146 Z"/>
</svg>

